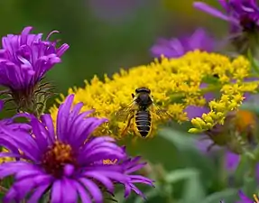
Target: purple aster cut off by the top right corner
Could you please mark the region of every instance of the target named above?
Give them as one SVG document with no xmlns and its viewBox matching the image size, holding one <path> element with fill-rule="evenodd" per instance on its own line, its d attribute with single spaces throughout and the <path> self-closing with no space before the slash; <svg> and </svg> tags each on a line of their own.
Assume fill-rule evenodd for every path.
<svg viewBox="0 0 259 203">
<path fill-rule="evenodd" d="M 230 23 L 230 32 L 234 34 L 233 44 L 238 51 L 253 49 L 258 42 L 259 7 L 256 0 L 218 0 L 225 14 L 203 2 L 195 2 L 194 7 Z M 254 37 L 255 36 L 255 37 Z"/>
</svg>

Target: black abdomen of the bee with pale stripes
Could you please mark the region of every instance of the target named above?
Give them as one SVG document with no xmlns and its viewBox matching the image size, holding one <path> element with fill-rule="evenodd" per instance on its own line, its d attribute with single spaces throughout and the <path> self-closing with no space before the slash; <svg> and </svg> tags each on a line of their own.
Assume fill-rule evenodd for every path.
<svg viewBox="0 0 259 203">
<path fill-rule="evenodd" d="M 149 111 L 138 111 L 135 114 L 136 128 L 143 137 L 146 137 L 151 130 L 151 115 Z"/>
</svg>

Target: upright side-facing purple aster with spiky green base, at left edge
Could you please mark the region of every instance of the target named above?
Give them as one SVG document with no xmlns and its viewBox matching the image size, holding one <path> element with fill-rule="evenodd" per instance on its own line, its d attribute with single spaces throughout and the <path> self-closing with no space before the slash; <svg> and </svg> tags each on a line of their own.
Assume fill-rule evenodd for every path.
<svg viewBox="0 0 259 203">
<path fill-rule="evenodd" d="M 8 88 L 7 93 L 18 108 L 34 108 L 31 105 L 38 102 L 36 97 L 48 94 L 50 87 L 39 83 L 69 49 L 68 44 L 56 48 L 57 42 L 49 41 L 57 31 L 51 32 L 46 40 L 42 40 L 42 33 L 31 31 L 32 27 L 25 27 L 19 35 L 8 34 L 2 38 L 0 85 Z"/>
</svg>

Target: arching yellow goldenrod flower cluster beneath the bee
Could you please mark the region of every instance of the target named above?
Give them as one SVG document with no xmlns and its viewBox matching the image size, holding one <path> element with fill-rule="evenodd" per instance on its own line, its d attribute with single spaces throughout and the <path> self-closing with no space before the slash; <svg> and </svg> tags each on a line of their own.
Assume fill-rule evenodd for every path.
<svg viewBox="0 0 259 203">
<path fill-rule="evenodd" d="M 69 94 L 75 94 L 75 103 L 84 103 L 83 110 L 95 108 L 95 116 L 109 119 L 95 135 L 121 137 L 125 123 L 116 120 L 115 112 L 128 106 L 135 88 L 140 87 L 150 88 L 155 105 L 167 109 L 171 117 L 180 123 L 188 120 L 184 112 L 186 106 L 209 105 L 211 112 L 208 115 L 192 121 L 195 128 L 191 131 L 196 132 L 206 130 L 217 122 L 222 124 L 227 112 L 241 104 L 244 92 L 257 88 L 257 83 L 243 83 L 249 71 L 249 62 L 243 57 L 231 61 L 216 53 L 193 51 L 179 59 L 162 58 L 149 65 L 121 69 L 111 78 L 105 75 L 103 81 L 95 76 L 90 82 L 86 81 L 84 88 L 69 88 Z M 218 76 L 217 84 L 200 88 L 207 78 L 213 78 L 215 74 Z M 211 90 L 220 90 L 222 96 L 208 104 L 203 94 Z M 61 96 L 58 103 L 63 100 L 64 96 Z M 57 106 L 51 107 L 51 116 L 56 118 Z M 160 117 L 154 116 L 153 132 L 161 122 Z M 128 133 L 134 134 L 134 129 L 129 128 Z"/>
</svg>

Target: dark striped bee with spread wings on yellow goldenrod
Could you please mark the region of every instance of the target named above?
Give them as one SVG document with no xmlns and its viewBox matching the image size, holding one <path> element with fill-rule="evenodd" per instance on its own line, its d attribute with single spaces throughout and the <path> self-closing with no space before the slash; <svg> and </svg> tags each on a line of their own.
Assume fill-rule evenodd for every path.
<svg viewBox="0 0 259 203">
<path fill-rule="evenodd" d="M 149 88 L 136 88 L 135 95 L 132 94 L 133 102 L 116 112 L 117 120 L 127 120 L 123 135 L 125 135 L 131 125 L 134 125 L 134 133 L 140 137 L 149 137 L 152 131 L 153 115 L 166 116 L 170 118 L 166 111 L 154 105 L 151 90 Z"/>
</svg>

